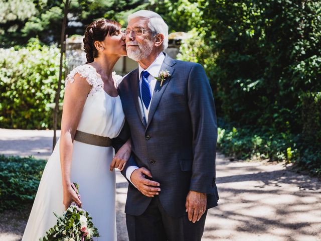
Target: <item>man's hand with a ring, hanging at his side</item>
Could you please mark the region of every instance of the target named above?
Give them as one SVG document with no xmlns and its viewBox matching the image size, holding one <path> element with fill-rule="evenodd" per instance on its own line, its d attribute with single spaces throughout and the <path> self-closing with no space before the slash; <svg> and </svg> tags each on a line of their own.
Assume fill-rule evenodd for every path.
<svg viewBox="0 0 321 241">
<path fill-rule="evenodd" d="M 206 193 L 189 191 L 185 207 L 189 220 L 193 223 L 199 221 L 206 209 Z"/>
</svg>

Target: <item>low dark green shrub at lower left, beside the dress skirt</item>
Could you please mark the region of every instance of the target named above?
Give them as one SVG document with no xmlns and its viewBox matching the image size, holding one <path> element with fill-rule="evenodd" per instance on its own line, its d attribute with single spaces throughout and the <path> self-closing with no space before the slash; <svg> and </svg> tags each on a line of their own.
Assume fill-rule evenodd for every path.
<svg viewBox="0 0 321 241">
<path fill-rule="evenodd" d="M 46 161 L 0 155 L 0 210 L 31 204 Z"/>
</svg>

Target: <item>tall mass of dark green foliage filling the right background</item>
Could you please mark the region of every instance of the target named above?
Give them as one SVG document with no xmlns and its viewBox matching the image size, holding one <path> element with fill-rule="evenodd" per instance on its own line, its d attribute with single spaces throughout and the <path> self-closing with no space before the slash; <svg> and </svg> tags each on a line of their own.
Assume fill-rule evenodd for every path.
<svg viewBox="0 0 321 241">
<path fill-rule="evenodd" d="M 310 154 L 321 143 L 321 1 L 150 2 L 173 30 L 189 31 L 178 57 L 205 67 L 224 153 L 320 170 Z"/>
</svg>

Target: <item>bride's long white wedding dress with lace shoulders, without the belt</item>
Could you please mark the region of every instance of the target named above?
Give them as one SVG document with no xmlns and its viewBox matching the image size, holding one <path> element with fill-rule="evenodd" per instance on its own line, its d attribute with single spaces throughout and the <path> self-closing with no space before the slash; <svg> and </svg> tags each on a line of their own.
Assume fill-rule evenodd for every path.
<svg viewBox="0 0 321 241">
<path fill-rule="evenodd" d="M 117 137 L 125 121 L 120 97 L 112 97 L 103 90 L 102 79 L 90 65 L 76 67 L 68 75 L 66 85 L 72 84 L 76 73 L 92 85 L 77 130 L 103 137 Z M 113 73 L 113 78 L 117 86 L 121 76 Z M 58 140 L 43 172 L 22 241 L 38 241 L 56 224 L 57 218 L 53 212 L 61 214 L 65 209 L 59 144 Z M 112 158 L 112 147 L 74 141 L 71 181 L 79 184 L 83 208 L 93 218 L 101 236 L 98 241 L 116 241 L 115 171 L 109 171 Z"/>
</svg>

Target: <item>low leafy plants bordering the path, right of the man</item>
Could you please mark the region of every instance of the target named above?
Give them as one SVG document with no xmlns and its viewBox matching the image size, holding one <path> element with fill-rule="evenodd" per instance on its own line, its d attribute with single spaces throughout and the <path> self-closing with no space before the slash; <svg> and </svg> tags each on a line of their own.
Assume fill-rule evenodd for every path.
<svg viewBox="0 0 321 241">
<path fill-rule="evenodd" d="M 305 138 L 302 135 L 275 134 L 251 128 L 218 128 L 217 148 L 235 159 L 286 161 L 294 163 L 301 170 L 321 176 L 319 142 L 308 145 Z"/>
</svg>

